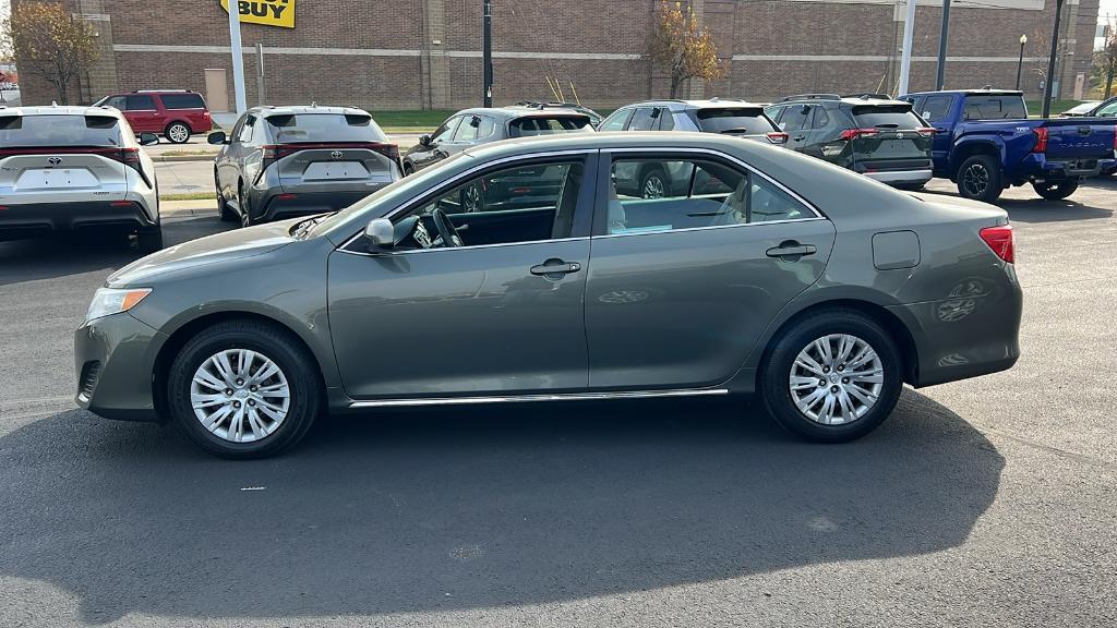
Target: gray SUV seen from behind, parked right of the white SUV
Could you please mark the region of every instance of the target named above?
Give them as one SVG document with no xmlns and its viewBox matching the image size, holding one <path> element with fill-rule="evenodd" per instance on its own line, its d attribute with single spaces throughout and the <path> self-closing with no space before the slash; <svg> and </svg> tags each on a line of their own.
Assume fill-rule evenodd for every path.
<svg viewBox="0 0 1117 628">
<path fill-rule="evenodd" d="M 256 107 L 213 164 L 218 211 L 245 227 L 353 204 L 402 177 L 400 150 L 354 107 Z"/>
</svg>

